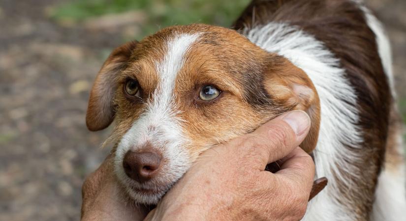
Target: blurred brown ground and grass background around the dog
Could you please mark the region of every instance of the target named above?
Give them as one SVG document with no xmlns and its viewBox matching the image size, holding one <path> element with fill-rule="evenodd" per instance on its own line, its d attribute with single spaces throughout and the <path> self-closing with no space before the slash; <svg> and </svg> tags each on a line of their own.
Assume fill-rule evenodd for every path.
<svg viewBox="0 0 406 221">
<path fill-rule="evenodd" d="M 0 0 L 0 220 L 78 220 L 111 128 L 85 126 L 111 50 L 170 25 L 230 26 L 250 0 Z M 388 30 L 406 117 L 406 0 L 366 0 Z"/>
</svg>

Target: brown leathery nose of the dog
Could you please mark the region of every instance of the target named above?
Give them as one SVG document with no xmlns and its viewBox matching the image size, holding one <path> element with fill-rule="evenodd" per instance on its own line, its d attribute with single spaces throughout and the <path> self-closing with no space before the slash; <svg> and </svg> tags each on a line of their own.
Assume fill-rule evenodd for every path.
<svg viewBox="0 0 406 221">
<path fill-rule="evenodd" d="M 131 179 L 143 183 L 153 178 L 158 172 L 161 156 L 155 152 L 125 153 L 123 167 L 125 174 Z"/>
</svg>

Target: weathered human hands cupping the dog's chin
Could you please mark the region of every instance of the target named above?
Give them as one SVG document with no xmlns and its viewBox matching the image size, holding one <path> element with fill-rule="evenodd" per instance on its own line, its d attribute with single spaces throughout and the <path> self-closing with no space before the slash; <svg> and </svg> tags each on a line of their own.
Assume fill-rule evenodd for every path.
<svg viewBox="0 0 406 221">
<path fill-rule="evenodd" d="M 309 128 L 305 112 L 291 111 L 205 151 L 152 211 L 125 197 L 110 155 L 83 185 L 82 220 L 300 220 L 314 177 L 298 147 Z M 264 170 L 275 161 L 278 172 Z"/>
</svg>

